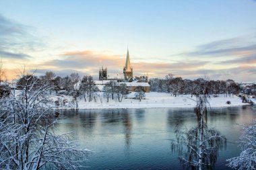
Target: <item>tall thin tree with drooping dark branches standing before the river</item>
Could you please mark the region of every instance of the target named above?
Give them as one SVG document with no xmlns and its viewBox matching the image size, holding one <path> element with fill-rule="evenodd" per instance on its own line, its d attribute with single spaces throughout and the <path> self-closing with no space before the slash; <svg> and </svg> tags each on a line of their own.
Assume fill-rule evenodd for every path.
<svg viewBox="0 0 256 170">
<path fill-rule="evenodd" d="M 207 126 L 207 95 L 197 96 L 195 114 L 197 126 L 187 131 L 175 130 L 177 143 L 172 143 L 172 151 L 177 151 L 185 165 L 212 167 L 218 158 L 218 150 L 226 144 L 226 138 L 220 132 Z"/>
</svg>

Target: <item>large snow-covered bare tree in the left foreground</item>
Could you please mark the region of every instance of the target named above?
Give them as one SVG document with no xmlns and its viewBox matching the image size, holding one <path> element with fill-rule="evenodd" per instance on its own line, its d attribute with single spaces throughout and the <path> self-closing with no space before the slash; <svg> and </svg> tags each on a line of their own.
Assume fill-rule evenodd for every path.
<svg viewBox="0 0 256 170">
<path fill-rule="evenodd" d="M 56 135 L 49 90 L 34 75 L 22 75 L 20 91 L 0 99 L 0 169 L 81 167 L 89 151 Z"/>
</svg>

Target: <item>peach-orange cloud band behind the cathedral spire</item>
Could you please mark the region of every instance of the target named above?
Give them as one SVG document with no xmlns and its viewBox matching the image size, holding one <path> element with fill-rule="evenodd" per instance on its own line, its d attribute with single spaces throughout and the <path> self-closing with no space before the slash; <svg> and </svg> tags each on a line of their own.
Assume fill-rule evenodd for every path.
<svg viewBox="0 0 256 170">
<path fill-rule="evenodd" d="M 92 74 L 98 74 L 100 67 L 107 67 L 109 73 L 122 73 L 125 65 L 126 55 L 119 54 L 98 54 L 92 51 L 81 52 L 66 52 L 61 54 L 58 60 L 49 60 L 42 63 L 43 66 L 53 67 L 55 69 L 77 69 L 90 70 Z M 148 72 L 166 71 L 170 73 L 173 69 L 198 69 L 206 65 L 206 61 L 188 60 L 183 62 L 133 62 L 131 58 L 131 65 L 134 73 L 142 75 Z"/>
</svg>

